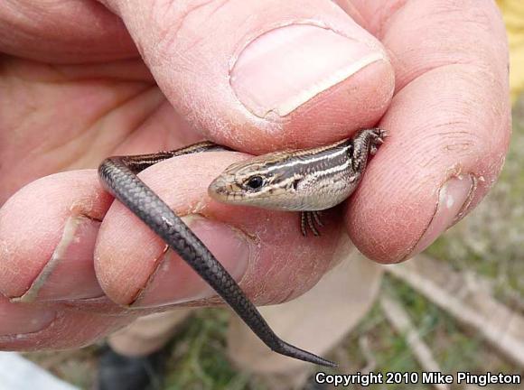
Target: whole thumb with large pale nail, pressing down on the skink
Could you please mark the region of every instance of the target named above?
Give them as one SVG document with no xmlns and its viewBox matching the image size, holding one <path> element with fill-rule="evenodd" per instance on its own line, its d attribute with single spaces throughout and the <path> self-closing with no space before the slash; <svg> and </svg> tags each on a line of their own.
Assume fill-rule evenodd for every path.
<svg viewBox="0 0 524 390">
<path fill-rule="evenodd" d="M 380 43 L 329 0 L 103 3 L 173 107 L 220 144 L 324 144 L 374 125 L 393 94 Z"/>
</svg>

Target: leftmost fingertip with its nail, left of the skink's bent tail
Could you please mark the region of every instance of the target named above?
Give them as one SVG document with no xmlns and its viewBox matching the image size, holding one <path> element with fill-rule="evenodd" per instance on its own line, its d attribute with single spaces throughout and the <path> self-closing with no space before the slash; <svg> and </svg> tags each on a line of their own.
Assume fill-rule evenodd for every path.
<svg viewBox="0 0 524 390">
<path fill-rule="evenodd" d="M 30 301 L 99 293 L 92 246 L 110 200 L 94 170 L 57 173 L 15 193 L 0 209 L 0 291 L 30 293 Z"/>
</svg>

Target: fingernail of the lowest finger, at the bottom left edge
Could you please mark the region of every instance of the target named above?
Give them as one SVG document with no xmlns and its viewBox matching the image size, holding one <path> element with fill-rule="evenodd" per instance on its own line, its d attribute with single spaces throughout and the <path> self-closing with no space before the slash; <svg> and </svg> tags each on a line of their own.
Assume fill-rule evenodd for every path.
<svg viewBox="0 0 524 390">
<path fill-rule="evenodd" d="M 2 315 L 0 321 L 0 336 L 16 336 L 44 330 L 56 318 L 56 311 L 35 309 L 33 305 L 23 303 L 9 303 L 6 309 L 8 311 Z"/>
</svg>

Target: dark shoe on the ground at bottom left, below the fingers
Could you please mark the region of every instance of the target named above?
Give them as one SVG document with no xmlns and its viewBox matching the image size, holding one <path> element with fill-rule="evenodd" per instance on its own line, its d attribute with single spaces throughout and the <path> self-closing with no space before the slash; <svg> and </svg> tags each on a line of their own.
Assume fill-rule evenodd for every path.
<svg viewBox="0 0 524 390">
<path fill-rule="evenodd" d="M 160 390 L 165 350 L 145 357 L 126 357 L 106 347 L 98 360 L 98 390 Z"/>
</svg>

